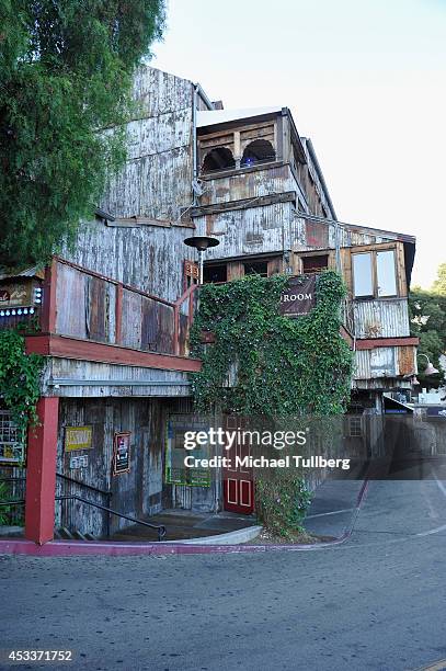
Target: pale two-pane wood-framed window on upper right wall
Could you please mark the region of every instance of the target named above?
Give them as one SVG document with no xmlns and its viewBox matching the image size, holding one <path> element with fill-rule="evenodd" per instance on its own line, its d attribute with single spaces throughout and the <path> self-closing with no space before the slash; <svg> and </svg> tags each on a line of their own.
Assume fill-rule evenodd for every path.
<svg viewBox="0 0 446 671">
<path fill-rule="evenodd" d="M 355 298 L 397 296 L 394 249 L 352 254 L 353 294 Z"/>
</svg>

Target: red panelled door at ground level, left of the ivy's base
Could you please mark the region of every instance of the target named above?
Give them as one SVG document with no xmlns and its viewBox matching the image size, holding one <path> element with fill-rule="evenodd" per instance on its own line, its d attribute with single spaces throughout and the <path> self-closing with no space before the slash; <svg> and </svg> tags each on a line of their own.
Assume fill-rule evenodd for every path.
<svg viewBox="0 0 446 671">
<path fill-rule="evenodd" d="M 225 423 L 227 431 L 237 432 L 238 429 L 243 429 L 243 422 L 233 417 L 228 417 Z M 238 464 L 236 457 L 243 458 L 250 455 L 250 445 L 235 441 L 230 450 L 225 450 L 225 456 L 229 457 L 231 467 L 222 471 L 224 509 L 244 515 L 250 515 L 254 510 L 254 482 L 252 468 Z"/>
</svg>

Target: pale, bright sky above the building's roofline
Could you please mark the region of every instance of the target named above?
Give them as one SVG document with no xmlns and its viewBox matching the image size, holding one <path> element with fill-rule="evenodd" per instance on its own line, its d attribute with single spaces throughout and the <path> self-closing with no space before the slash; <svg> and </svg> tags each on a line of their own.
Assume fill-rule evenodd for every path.
<svg viewBox="0 0 446 671">
<path fill-rule="evenodd" d="M 446 0 L 169 0 L 151 65 L 225 107 L 287 106 L 338 218 L 446 262 Z"/>
</svg>

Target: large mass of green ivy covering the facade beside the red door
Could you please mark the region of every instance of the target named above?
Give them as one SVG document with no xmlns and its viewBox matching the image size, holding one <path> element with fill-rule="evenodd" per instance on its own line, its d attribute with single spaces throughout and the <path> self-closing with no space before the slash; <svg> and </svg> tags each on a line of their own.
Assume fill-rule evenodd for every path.
<svg viewBox="0 0 446 671">
<path fill-rule="evenodd" d="M 202 287 L 191 334 L 192 354 L 203 361 L 202 371 L 192 377 L 197 412 L 217 408 L 227 414 L 276 420 L 345 411 L 353 357 L 340 334 L 342 277 L 323 272 L 315 308 L 294 319 L 279 314 L 287 281 L 286 275 L 248 275 Z M 206 331 L 213 333 L 213 344 L 203 343 Z M 311 498 L 304 478 L 289 471 L 267 477 L 258 471 L 255 482 L 256 512 L 265 527 L 286 538 L 302 532 Z"/>
</svg>

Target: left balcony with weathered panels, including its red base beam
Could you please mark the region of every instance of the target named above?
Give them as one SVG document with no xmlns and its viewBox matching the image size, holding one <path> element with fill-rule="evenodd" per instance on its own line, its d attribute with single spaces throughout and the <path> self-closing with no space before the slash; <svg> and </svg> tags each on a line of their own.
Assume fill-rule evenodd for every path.
<svg viewBox="0 0 446 671">
<path fill-rule="evenodd" d="M 14 328 L 18 323 L 34 327 L 34 332 L 27 336 L 30 352 L 178 371 L 199 369 L 201 362 L 188 357 L 196 286 L 171 303 L 60 258 L 53 259 L 43 280 L 38 275 L 16 276 L 13 282 L 14 286 L 27 287 L 30 300 L 25 303 L 30 305 L 3 309 L 0 328 Z M 32 303 L 36 287 L 37 295 L 42 289 L 39 304 Z"/>
</svg>

